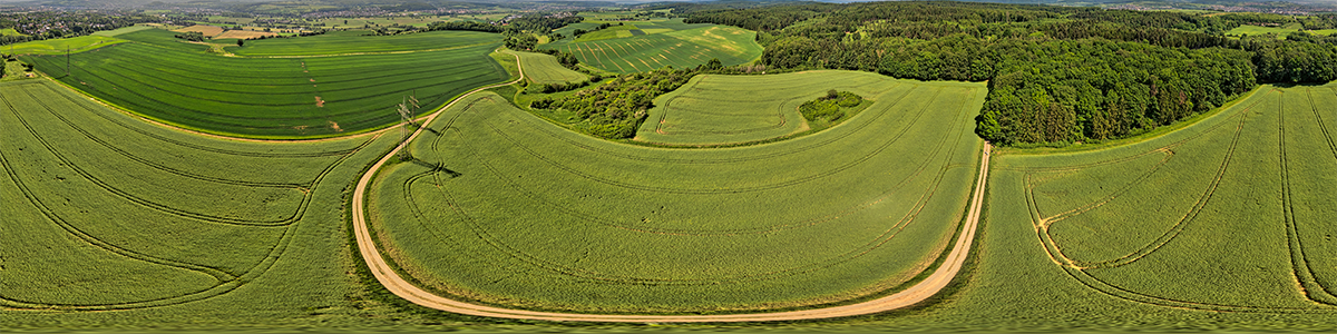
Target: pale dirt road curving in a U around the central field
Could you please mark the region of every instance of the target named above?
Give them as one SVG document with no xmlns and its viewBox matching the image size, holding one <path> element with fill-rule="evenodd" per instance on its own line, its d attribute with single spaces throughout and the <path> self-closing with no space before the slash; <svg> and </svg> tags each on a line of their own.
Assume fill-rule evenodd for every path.
<svg viewBox="0 0 1337 334">
<path fill-rule="evenodd" d="M 512 84 L 524 80 L 524 67 L 520 65 L 519 56 L 516 56 L 516 64 L 520 68 L 520 79 L 504 84 Z M 441 110 L 433 112 L 432 116 L 429 116 L 422 124 L 431 123 L 433 119 L 436 119 L 437 115 L 440 115 L 451 106 L 455 106 L 456 102 L 463 100 L 465 96 L 504 84 L 495 84 L 473 90 L 460 96 L 460 99 L 451 102 Z M 991 146 L 985 143 L 984 154 L 981 155 L 980 160 L 979 179 L 975 183 L 975 194 L 971 196 L 971 211 L 965 218 L 965 223 L 961 224 L 963 231 L 956 240 L 956 247 L 953 247 L 952 253 L 947 255 L 947 261 L 937 267 L 937 271 L 933 271 L 933 274 L 929 275 L 927 279 L 919 282 L 917 285 L 904 291 L 861 303 L 834 306 L 826 309 L 798 310 L 798 311 L 715 314 L 715 315 L 579 314 L 579 313 L 511 310 L 511 309 L 472 305 L 467 302 L 453 301 L 445 297 L 435 295 L 417 286 L 413 286 L 402 277 L 400 277 L 398 273 L 394 273 L 394 270 L 390 269 L 389 263 L 385 262 L 385 258 L 382 258 L 381 253 L 376 248 L 376 242 L 372 240 L 372 235 L 368 231 L 368 223 L 365 218 L 366 202 L 364 195 L 366 194 L 368 186 L 372 183 L 372 178 L 381 168 L 381 166 L 384 166 L 386 162 L 394 158 L 394 154 L 398 152 L 400 150 L 404 150 L 409 142 L 413 142 L 413 139 L 418 136 L 418 134 L 422 134 L 424 128 L 427 127 L 425 126 L 420 127 L 417 131 L 413 132 L 412 136 L 409 136 L 409 140 L 400 143 L 398 147 L 396 147 L 384 158 L 381 158 L 381 160 L 376 162 L 376 164 L 373 164 L 372 168 L 369 168 L 366 174 L 364 174 L 362 178 L 358 179 L 357 188 L 353 190 L 353 203 L 354 203 L 353 234 L 357 236 L 357 248 L 362 254 L 362 259 L 366 261 L 366 267 L 372 270 L 372 274 L 376 275 L 376 281 L 381 282 L 381 285 L 384 285 L 386 290 L 416 305 L 443 311 L 477 315 L 477 317 L 539 319 L 539 321 L 588 321 L 588 322 L 797 321 L 797 319 L 824 319 L 824 318 L 864 315 L 864 314 L 882 313 L 916 305 L 919 302 L 928 299 L 933 294 L 937 294 L 939 291 L 943 290 L 943 287 L 947 287 L 947 285 L 952 282 L 952 278 L 956 277 L 956 273 L 961 270 L 961 265 L 965 262 L 967 254 L 969 254 L 971 251 L 971 243 L 975 240 L 975 230 L 980 220 L 980 204 L 984 200 L 984 182 L 988 179 L 989 151 L 991 151 Z"/>
</svg>

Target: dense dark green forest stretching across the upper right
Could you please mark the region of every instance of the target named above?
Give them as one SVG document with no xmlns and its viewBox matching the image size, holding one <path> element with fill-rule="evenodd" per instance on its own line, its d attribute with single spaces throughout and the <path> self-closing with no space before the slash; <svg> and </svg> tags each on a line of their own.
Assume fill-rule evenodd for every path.
<svg viewBox="0 0 1337 334">
<path fill-rule="evenodd" d="M 999 144 L 1118 139 L 1210 111 L 1258 83 L 1337 80 L 1337 36 L 1225 35 L 1242 24 L 1326 27 L 1330 15 L 936 1 L 667 7 L 687 23 L 757 29 L 771 68 L 988 80 L 976 131 Z"/>
</svg>

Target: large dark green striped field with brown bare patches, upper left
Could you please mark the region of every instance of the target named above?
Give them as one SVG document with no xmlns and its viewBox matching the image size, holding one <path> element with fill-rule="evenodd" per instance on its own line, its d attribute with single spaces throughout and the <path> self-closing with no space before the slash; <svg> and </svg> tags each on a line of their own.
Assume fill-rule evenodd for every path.
<svg viewBox="0 0 1337 334">
<path fill-rule="evenodd" d="M 417 111 L 425 114 L 508 76 L 487 56 L 497 43 L 393 55 L 269 59 L 218 56 L 171 35 L 162 29 L 120 35 L 135 43 L 74 55 L 70 76 L 64 76 L 64 56 L 29 56 L 25 61 L 70 87 L 147 118 L 251 138 L 370 131 L 398 122 L 394 106 L 414 92 L 421 106 Z"/>
</svg>

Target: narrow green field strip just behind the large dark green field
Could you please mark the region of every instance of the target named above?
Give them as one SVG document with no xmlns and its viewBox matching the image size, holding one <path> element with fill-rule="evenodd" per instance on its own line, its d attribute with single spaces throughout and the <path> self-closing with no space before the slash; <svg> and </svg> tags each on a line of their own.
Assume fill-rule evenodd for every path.
<svg viewBox="0 0 1337 334">
<path fill-rule="evenodd" d="M 366 31 L 336 31 L 298 39 L 249 40 L 229 48 L 241 56 L 314 56 L 364 52 L 402 52 L 492 45 L 501 36 L 473 31 L 435 31 L 392 36 L 364 36 Z"/>
</svg>

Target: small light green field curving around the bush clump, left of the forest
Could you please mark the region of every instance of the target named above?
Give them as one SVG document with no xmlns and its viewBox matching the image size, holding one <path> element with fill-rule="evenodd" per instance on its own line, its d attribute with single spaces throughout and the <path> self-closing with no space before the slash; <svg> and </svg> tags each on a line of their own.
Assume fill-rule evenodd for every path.
<svg viewBox="0 0 1337 334">
<path fill-rule="evenodd" d="M 527 68 L 528 69 L 528 68 Z M 923 83 L 848 71 L 816 71 L 767 76 L 698 75 L 682 88 L 655 99 L 655 108 L 635 140 L 660 144 L 727 144 L 773 139 L 806 131 L 798 106 L 826 95 L 852 91 L 870 100 L 894 98 L 897 86 Z M 961 87 L 947 83 L 927 86 Z M 967 86 L 975 87 L 975 86 Z M 973 100 L 979 90 L 948 95 Z M 949 98 L 949 96 L 944 96 Z"/>
</svg>

